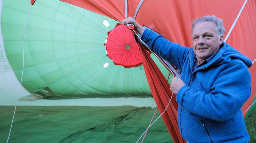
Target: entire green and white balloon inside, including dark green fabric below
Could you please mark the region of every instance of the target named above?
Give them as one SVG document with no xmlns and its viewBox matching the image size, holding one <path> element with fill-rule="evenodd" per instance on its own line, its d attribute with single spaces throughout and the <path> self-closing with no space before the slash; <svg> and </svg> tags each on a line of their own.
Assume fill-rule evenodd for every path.
<svg viewBox="0 0 256 143">
<path fill-rule="evenodd" d="M 136 142 L 156 106 L 143 65 L 124 68 L 106 54 L 108 32 L 117 22 L 59 0 L 37 0 L 24 34 L 19 86 L 30 1 L 0 2 L 1 141 L 8 138 L 20 95 L 9 142 Z M 169 72 L 151 56 L 167 79 Z M 145 138 L 170 141 L 162 118 Z"/>
</svg>

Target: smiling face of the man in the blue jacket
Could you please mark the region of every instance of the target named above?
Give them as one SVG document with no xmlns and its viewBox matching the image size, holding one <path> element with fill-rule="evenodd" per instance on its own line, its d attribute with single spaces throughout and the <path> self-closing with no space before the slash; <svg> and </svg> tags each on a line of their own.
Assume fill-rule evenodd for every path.
<svg viewBox="0 0 256 143">
<path fill-rule="evenodd" d="M 218 51 L 223 42 L 223 36 L 218 37 L 214 22 L 204 21 L 194 26 L 192 41 L 197 62 L 201 64 Z"/>
</svg>

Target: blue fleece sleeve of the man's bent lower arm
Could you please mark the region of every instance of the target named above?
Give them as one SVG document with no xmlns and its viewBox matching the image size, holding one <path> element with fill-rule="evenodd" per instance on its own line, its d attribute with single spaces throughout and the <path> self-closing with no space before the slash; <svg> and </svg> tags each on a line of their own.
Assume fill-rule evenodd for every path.
<svg viewBox="0 0 256 143">
<path fill-rule="evenodd" d="M 219 72 L 211 92 L 196 91 L 187 85 L 177 93 L 177 102 L 192 113 L 225 122 L 232 118 L 251 94 L 251 75 L 241 63 Z"/>
</svg>

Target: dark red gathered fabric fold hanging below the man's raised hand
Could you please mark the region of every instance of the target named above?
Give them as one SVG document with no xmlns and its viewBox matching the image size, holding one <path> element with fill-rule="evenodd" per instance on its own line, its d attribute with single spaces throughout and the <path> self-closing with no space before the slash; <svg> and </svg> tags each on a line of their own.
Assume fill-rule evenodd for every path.
<svg viewBox="0 0 256 143">
<path fill-rule="evenodd" d="M 150 90 L 157 104 L 159 112 L 163 113 L 170 101 L 172 94 L 170 85 L 145 48 L 142 48 L 141 44 L 139 47 Z M 166 112 L 162 115 L 162 118 L 173 141 L 175 143 L 186 143 L 186 141 L 181 137 L 179 131 L 177 109 L 178 103 L 176 102 L 176 95 L 173 94 L 170 105 L 166 109 Z"/>
</svg>

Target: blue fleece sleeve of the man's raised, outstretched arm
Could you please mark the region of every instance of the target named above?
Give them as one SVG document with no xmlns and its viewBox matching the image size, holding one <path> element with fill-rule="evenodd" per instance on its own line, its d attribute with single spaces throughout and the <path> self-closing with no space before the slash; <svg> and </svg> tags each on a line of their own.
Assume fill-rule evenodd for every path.
<svg viewBox="0 0 256 143">
<path fill-rule="evenodd" d="M 182 65 L 188 57 L 186 56 L 189 52 L 188 47 L 183 47 L 178 43 L 171 42 L 162 35 L 147 28 L 143 32 L 141 40 L 146 42 L 154 52 L 166 61 L 182 69 Z"/>
</svg>

